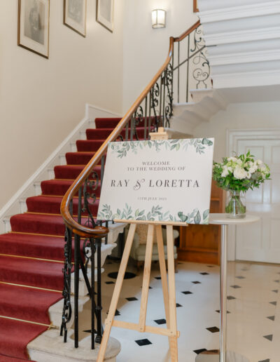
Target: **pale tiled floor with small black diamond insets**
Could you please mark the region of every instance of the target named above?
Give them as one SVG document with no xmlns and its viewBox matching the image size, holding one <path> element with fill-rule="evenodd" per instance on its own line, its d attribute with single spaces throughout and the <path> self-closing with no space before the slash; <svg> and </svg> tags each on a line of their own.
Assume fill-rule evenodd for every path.
<svg viewBox="0 0 280 362">
<path fill-rule="evenodd" d="M 118 271 L 118 262 L 107 260 L 104 267 L 102 305 L 105 319 L 116 281 L 109 277 L 109 273 Z M 200 351 L 218 349 L 219 267 L 179 262 L 178 269 L 179 362 L 194 362 Z M 133 264 L 127 271 L 136 273 Z M 228 263 L 228 350 L 246 356 L 250 362 L 280 361 L 279 279 L 279 265 Z M 116 319 L 138 323 L 141 283 L 142 273 L 125 279 Z M 165 309 L 158 264 L 152 266 L 150 286 L 146 323 L 164 326 Z M 83 330 L 90 329 L 90 325 L 85 326 L 90 323 L 88 313 L 85 306 Z M 170 361 L 167 337 L 120 328 L 112 328 L 111 335 L 122 344 L 117 362 Z"/>
</svg>

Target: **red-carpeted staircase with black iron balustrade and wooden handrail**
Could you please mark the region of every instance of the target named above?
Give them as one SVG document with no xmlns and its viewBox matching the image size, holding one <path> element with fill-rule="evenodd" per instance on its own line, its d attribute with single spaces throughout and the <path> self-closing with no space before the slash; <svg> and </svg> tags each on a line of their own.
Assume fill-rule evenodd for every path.
<svg viewBox="0 0 280 362">
<path fill-rule="evenodd" d="M 86 130 L 86 140 L 78 140 L 76 151 L 66 153 L 66 165 L 55 166 L 53 180 L 41 182 L 41 194 L 29 197 L 26 206 L 22 202 L 27 212 L 6 220 L 10 232 L 0 235 L 0 361 L 96 360 L 95 342 L 102 338 L 102 265 L 124 227 L 96 222 L 106 148 L 112 141 L 148 140 L 158 126 L 165 126 L 172 138 L 186 138 L 226 107 L 219 93 L 204 89 L 211 81 L 201 31 L 197 22 L 170 38 L 165 63 L 123 119 L 95 119 L 96 128 Z M 180 59 L 183 41 L 186 60 Z M 193 83 L 191 60 L 196 67 Z M 183 67 L 187 84 L 180 83 Z M 195 89 L 189 90 L 191 86 Z M 79 341 L 78 313 L 89 298 L 91 335 Z M 64 343 L 71 336 L 76 348 Z M 106 361 L 116 361 L 120 344 L 111 339 L 109 346 Z"/>
</svg>

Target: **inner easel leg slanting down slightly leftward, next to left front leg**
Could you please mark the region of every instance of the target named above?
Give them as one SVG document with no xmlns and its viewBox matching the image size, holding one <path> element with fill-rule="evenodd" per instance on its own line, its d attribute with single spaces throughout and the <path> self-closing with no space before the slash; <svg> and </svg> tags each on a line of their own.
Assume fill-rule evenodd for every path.
<svg viewBox="0 0 280 362">
<path fill-rule="evenodd" d="M 148 225 L 147 244 L 146 244 L 146 255 L 144 264 L 143 284 L 142 284 L 142 295 L 141 295 L 141 306 L 139 316 L 139 330 L 145 332 L 146 327 L 146 314 L 148 304 L 148 290 L 151 277 L 151 264 L 153 256 L 153 234 L 155 227 L 153 224 Z"/>
</svg>

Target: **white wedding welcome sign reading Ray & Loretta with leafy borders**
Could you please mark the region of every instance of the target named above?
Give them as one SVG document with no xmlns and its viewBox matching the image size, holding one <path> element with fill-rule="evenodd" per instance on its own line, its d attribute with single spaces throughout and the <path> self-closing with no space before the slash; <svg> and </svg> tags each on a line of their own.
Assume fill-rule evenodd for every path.
<svg viewBox="0 0 280 362">
<path fill-rule="evenodd" d="M 208 224 L 213 138 L 111 142 L 98 220 Z"/>
</svg>

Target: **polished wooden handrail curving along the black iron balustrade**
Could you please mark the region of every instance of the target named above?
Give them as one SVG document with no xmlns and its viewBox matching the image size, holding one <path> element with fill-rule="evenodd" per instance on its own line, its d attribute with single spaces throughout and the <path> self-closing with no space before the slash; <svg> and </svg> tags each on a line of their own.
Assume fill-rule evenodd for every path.
<svg viewBox="0 0 280 362">
<path fill-rule="evenodd" d="M 60 212 L 62 214 L 64 223 L 66 224 L 66 227 L 71 229 L 73 233 L 78 234 L 83 237 L 87 238 L 102 238 L 106 234 L 108 234 L 109 230 L 106 227 L 95 227 L 94 229 L 90 229 L 89 227 L 85 227 L 81 224 L 78 224 L 76 220 L 73 220 L 73 217 L 71 216 L 69 207 L 71 200 L 73 199 L 73 196 L 78 192 L 78 189 L 83 185 L 83 182 L 87 179 L 87 177 L 90 176 L 90 173 L 92 173 L 92 169 L 94 166 L 97 166 L 98 162 L 102 158 L 102 156 L 105 154 L 106 149 L 108 147 L 109 142 L 113 142 L 118 138 L 120 133 L 122 132 L 123 128 L 127 125 L 127 123 L 130 121 L 131 117 L 133 116 L 134 112 L 137 110 L 137 107 L 141 105 L 141 102 L 146 98 L 148 93 L 151 91 L 153 86 L 155 85 L 156 81 L 162 74 L 162 72 L 165 71 L 167 66 L 169 65 L 170 60 L 172 59 L 172 54 L 174 50 L 174 42 L 175 41 L 181 41 L 184 39 L 188 34 L 193 32 L 193 30 L 200 25 L 200 21 L 197 21 L 192 27 L 190 27 L 186 32 L 181 34 L 179 37 L 174 38 L 173 36 L 170 36 L 169 38 L 169 51 L 167 58 L 165 62 L 163 63 L 162 67 L 158 70 L 158 72 L 155 74 L 153 79 L 148 83 L 148 86 L 143 90 L 143 92 L 139 95 L 137 100 L 133 103 L 132 107 L 127 111 L 125 116 L 120 120 L 116 128 L 110 133 L 109 137 L 106 138 L 105 142 L 97 152 L 94 154 L 92 159 L 87 163 L 83 171 L 78 175 L 76 180 L 73 182 L 71 187 L 67 190 L 66 194 L 64 195 L 62 199 L 62 203 L 60 206 Z"/>
</svg>

